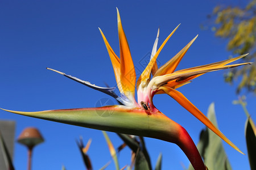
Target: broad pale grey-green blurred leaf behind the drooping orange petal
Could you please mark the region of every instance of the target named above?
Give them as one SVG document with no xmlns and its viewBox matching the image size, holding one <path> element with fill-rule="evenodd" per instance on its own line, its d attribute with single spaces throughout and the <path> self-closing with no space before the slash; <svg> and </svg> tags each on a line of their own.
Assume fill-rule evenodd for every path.
<svg viewBox="0 0 256 170">
<path fill-rule="evenodd" d="M 216 126 L 217 120 L 214 111 L 214 103 L 210 104 L 208 108 L 207 117 Z M 204 129 L 200 134 L 200 141 L 197 144 L 201 156 L 204 158 L 204 163 L 210 170 L 230 170 L 231 165 L 228 157 L 222 145 L 221 138 L 214 134 L 211 130 Z M 192 170 L 192 166 L 189 165 L 189 170 Z"/>
</svg>

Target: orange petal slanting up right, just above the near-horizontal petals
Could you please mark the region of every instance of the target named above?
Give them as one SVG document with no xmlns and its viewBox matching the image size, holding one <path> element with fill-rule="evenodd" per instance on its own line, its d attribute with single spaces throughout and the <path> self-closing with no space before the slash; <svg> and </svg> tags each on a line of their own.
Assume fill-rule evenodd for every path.
<svg viewBox="0 0 256 170">
<path fill-rule="evenodd" d="M 176 69 L 177 65 L 179 65 L 181 59 L 183 58 L 185 53 L 187 53 L 189 47 L 196 40 L 197 36 L 193 40 L 191 40 L 183 49 L 181 49 L 179 53 L 177 53 L 174 57 L 172 57 L 162 67 L 160 67 L 158 71 L 156 71 L 155 76 L 174 73 L 174 70 Z"/>
</svg>

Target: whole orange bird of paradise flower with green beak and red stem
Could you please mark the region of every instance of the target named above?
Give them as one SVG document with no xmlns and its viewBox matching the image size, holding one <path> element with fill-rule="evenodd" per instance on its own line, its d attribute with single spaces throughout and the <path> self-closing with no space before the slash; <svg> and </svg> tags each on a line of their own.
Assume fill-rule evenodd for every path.
<svg viewBox="0 0 256 170">
<path fill-rule="evenodd" d="M 47 69 L 56 71 L 57 73 L 76 80 L 85 86 L 104 92 L 105 94 L 108 94 L 117 99 L 120 105 L 109 105 L 99 108 L 59 109 L 41 112 L 19 112 L 10 111 L 7 109 L 3 110 L 16 114 L 22 114 L 25 116 L 42 118 L 44 120 L 83 126 L 86 128 L 162 139 L 163 141 L 172 142 L 178 145 L 187 155 L 189 161 L 193 165 L 193 168 L 206 169 L 207 167 L 204 165 L 199 151 L 197 150 L 195 143 L 193 143 L 187 131 L 182 126 L 164 115 L 162 112 L 158 111 L 158 109 L 153 104 L 152 98 L 154 95 L 167 94 L 174 98 L 182 107 L 192 113 L 193 116 L 203 122 L 203 124 L 205 124 L 230 146 L 242 153 L 242 151 L 240 151 L 237 146 L 229 141 L 229 139 L 226 138 L 225 135 L 222 134 L 221 131 L 218 130 L 212 124 L 212 122 L 210 122 L 208 118 L 195 107 L 195 105 L 193 105 L 183 94 L 181 94 L 181 92 L 177 91 L 176 88 L 184 86 L 185 84 L 190 83 L 192 79 L 210 71 L 229 69 L 232 67 L 250 64 L 238 63 L 228 65 L 237 59 L 245 57 L 247 54 L 238 56 L 236 58 L 226 59 L 220 62 L 210 63 L 208 65 L 175 71 L 184 54 L 196 40 L 196 36 L 183 49 L 181 49 L 179 53 L 171 58 L 170 61 L 165 63 L 162 67 L 158 68 L 156 64 L 156 58 L 159 56 L 160 51 L 163 49 L 164 45 L 179 27 L 179 25 L 174 29 L 174 31 L 170 33 L 166 40 L 164 40 L 159 49 L 157 49 L 159 37 L 158 30 L 158 35 L 152 49 L 150 62 L 148 63 L 146 69 L 144 69 L 141 76 L 139 76 L 136 84 L 134 64 L 131 58 L 125 32 L 122 28 L 118 9 L 117 20 L 120 58 L 114 53 L 113 49 L 109 45 L 109 42 L 106 40 L 104 33 L 100 28 L 99 29 L 112 61 L 115 79 L 117 81 L 118 89 L 121 92 L 121 96 L 117 96 L 113 92 L 114 87 L 96 86 L 60 71 L 49 68 Z M 138 101 L 135 100 L 135 84 L 137 86 Z M 99 116 L 98 113 L 104 113 L 105 111 L 111 111 L 111 116 Z"/>
</svg>

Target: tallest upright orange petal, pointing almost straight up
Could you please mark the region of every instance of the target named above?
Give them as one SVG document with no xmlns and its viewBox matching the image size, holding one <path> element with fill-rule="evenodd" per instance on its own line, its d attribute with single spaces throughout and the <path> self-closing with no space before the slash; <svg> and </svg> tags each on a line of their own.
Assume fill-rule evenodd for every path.
<svg viewBox="0 0 256 170">
<path fill-rule="evenodd" d="M 120 46 L 120 60 L 121 60 L 121 86 L 124 94 L 130 99 L 134 100 L 136 74 L 133 65 L 133 59 L 131 59 L 130 48 L 126 40 L 125 32 L 121 23 L 119 11 L 117 9 L 117 24 L 118 24 L 118 36 Z"/>
</svg>

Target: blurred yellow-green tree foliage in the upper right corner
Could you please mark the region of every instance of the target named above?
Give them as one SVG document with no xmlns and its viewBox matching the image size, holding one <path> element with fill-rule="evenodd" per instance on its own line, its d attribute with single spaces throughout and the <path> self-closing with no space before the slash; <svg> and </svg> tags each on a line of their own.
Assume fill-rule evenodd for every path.
<svg viewBox="0 0 256 170">
<path fill-rule="evenodd" d="M 254 62 L 256 58 L 256 0 L 249 1 L 246 7 L 222 6 L 214 8 L 212 14 L 208 15 L 216 37 L 228 40 L 227 50 L 236 54 L 246 54 L 241 62 Z M 256 94 L 256 67 L 255 63 L 245 67 L 230 69 L 225 73 L 225 82 L 233 83 L 241 77 L 237 87 L 237 94 L 242 89 Z"/>
</svg>

